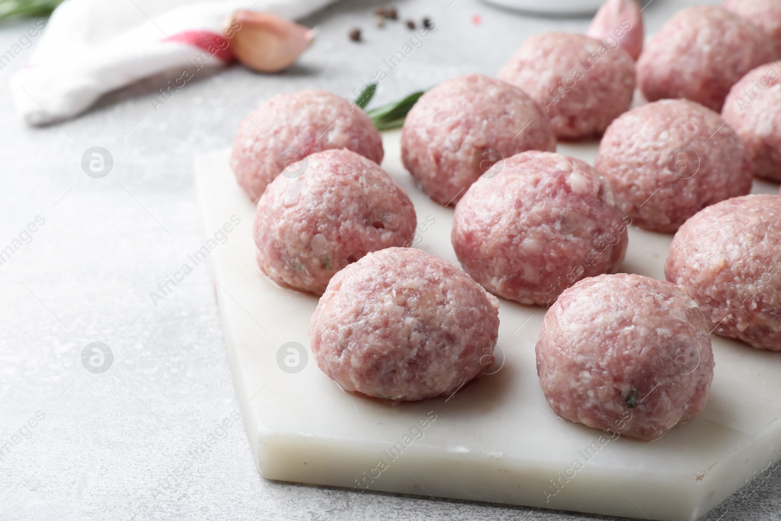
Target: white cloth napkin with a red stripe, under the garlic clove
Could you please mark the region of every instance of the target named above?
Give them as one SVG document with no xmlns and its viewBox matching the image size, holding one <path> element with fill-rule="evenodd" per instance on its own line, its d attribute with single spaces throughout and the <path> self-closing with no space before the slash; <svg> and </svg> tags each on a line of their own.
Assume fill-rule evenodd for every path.
<svg viewBox="0 0 781 521">
<path fill-rule="evenodd" d="M 178 67 L 233 59 L 219 40 L 235 9 L 295 20 L 329 0 L 66 0 L 27 66 L 10 80 L 16 112 L 45 125 L 84 112 L 106 92 Z"/>
</svg>

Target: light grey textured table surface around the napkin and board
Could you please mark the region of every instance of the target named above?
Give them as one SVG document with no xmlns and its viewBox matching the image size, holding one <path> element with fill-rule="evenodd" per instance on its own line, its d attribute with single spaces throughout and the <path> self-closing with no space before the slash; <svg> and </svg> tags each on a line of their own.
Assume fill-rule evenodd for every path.
<svg viewBox="0 0 781 521">
<path fill-rule="evenodd" d="M 653 0 L 647 30 L 694 3 Z M 319 27 L 316 44 L 286 73 L 201 71 L 156 110 L 152 98 L 180 71 L 33 129 L 8 92 L 31 51 L 0 71 L 0 248 L 45 219 L 0 266 L 0 447 L 10 443 L 0 451 L 0 519 L 608 519 L 396 494 L 351 500 L 343 489 L 263 480 L 241 421 L 230 420 L 238 404 L 208 269 L 157 306 L 149 297 L 202 244 L 194 158 L 229 147 L 243 114 L 276 93 L 350 97 L 411 36 L 401 23 L 374 27 L 376 5 L 346 0 L 305 20 Z M 587 27 L 477 0 L 394 5 L 402 20 L 431 16 L 437 29 L 380 84 L 376 104 L 464 73 L 495 75 L 526 36 Z M 0 53 L 33 24 L 0 27 Z M 348 41 L 351 24 L 365 42 Z M 103 179 L 80 168 L 92 146 L 113 157 Z M 112 350 L 105 373 L 82 364 L 93 341 Z M 781 519 L 779 491 L 774 474 L 704 519 Z"/>
</svg>

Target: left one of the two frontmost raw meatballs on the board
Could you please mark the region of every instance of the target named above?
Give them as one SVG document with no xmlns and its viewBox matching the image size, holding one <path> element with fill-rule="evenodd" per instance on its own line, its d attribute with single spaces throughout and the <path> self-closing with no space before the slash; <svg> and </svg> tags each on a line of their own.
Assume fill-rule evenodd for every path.
<svg viewBox="0 0 781 521">
<path fill-rule="evenodd" d="M 499 301 L 417 248 L 370 253 L 331 279 L 312 355 L 345 391 L 391 400 L 453 393 L 494 360 Z"/>
</svg>

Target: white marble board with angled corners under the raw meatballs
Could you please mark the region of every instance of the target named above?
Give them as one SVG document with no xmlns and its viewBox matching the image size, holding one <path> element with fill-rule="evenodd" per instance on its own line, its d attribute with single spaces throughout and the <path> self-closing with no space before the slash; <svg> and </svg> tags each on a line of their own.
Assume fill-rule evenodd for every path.
<svg viewBox="0 0 781 521">
<path fill-rule="evenodd" d="M 382 166 L 415 204 L 416 243 L 457 262 L 452 209 L 415 187 L 401 166 L 399 135 L 383 134 Z M 591 163 L 596 149 L 559 145 Z M 608 439 L 548 407 L 534 357 L 544 309 L 505 300 L 495 373 L 449 398 L 398 406 L 344 393 L 308 352 L 317 298 L 276 287 L 255 265 L 254 206 L 234 181 L 228 153 L 198 159 L 196 187 L 244 426 L 266 478 L 350 487 L 351 501 L 368 488 L 688 521 L 781 459 L 781 355 L 714 337 L 715 377 L 701 416 L 651 443 Z M 755 192 L 777 190 L 754 184 Z M 671 240 L 631 228 L 622 271 L 663 279 Z M 305 346 L 292 369 L 284 362 L 297 362 L 290 345 L 283 348 L 288 342 Z"/>
</svg>

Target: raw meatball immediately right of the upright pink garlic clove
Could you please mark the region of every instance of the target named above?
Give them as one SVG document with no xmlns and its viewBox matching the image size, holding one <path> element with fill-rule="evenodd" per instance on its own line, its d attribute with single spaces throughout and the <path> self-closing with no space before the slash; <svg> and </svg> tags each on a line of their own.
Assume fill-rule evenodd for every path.
<svg viewBox="0 0 781 521">
<path fill-rule="evenodd" d="M 649 102 L 686 98 L 720 111 L 737 80 L 775 57 L 767 34 L 717 5 L 672 17 L 637 62 L 637 84 Z"/>
</svg>

